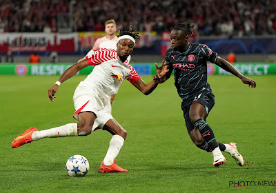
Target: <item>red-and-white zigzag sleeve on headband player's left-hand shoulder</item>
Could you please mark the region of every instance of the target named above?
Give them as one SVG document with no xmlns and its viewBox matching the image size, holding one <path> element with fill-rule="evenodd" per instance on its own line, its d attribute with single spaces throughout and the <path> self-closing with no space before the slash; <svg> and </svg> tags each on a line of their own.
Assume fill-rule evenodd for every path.
<svg viewBox="0 0 276 193">
<path fill-rule="evenodd" d="M 113 52 L 110 49 L 101 49 L 90 57 L 86 56 L 89 65 L 97 65 L 111 59 L 113 59 Z"/>
</svg>

